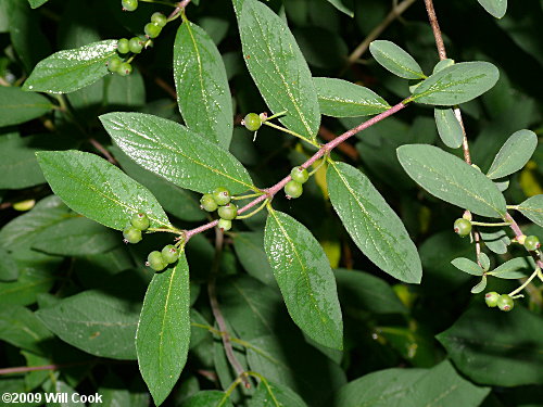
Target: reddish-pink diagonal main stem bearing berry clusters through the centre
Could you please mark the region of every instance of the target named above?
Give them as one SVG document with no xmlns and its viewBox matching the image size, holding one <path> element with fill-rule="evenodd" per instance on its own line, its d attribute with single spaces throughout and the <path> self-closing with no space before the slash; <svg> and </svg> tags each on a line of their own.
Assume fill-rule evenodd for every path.
<svg viewBox="0 0 543 407">
<path fill-rule="evenodd" d="M 376 123 L 381 122 L 383 118 L 392 116 L 394 113 L 400 112 L 405 106 L 406 106 L 406 104 L 404 104 L 404 102 L 402 101 L 402 102 L 397 103 L 396 105 L 392 106 L 391 109 L 389 109 L 388 111 L 384 111 L 384 112 L 378 114 L 377 116 L 370 118 L 369 120 L 362 123 L 361 125 L 352 128 L 349 131 L 345 131 L 341 136 L 334 138 L 332 141 L 329 141 L 325 145 L 320 147 L 320 149 L 315 154 L 313 154 L 313 156 L 311 158 L 308 158 L 305 163 L 303 163 L 301 166 L 304 168 L 311 167 L 313 163 L 315 163 L 317 160 L 321 158 L 325 154 L 330 153 L 330 151 L 336 149 L 338 145 L 340 145 L 343 141 L 345 141 L 350 137 L 356 135 L 357 132 L 361 132 L 362 130 L 367 129 L 368 127 L 375 125 Z M 244 212 L 249 211 L 250 208 L 257 205 L 258 203 L 261 203 L 264 200 L 272 200 L 275 196 L 275 194 L 277 192 L 279 192 L 287 185 L 287 182 L 289 182 L 291 179 L 292 178 L 290 177 L 290 175 L 288 175 L 287 177 L 281 179 L 279 182 L 277 182 L 275 186 L 273 186 L 272 188 L 263 190 L 263 192 L 265 192 L 264 194 L 260 195 L 258 198 L 254 199 L 253 201 L 248 203 L 245 206 L 240 208 L 238 211 L 238 214 L 240 214 L 240 215 L 243 214 Z M 202 225 L 195 229 L 185 231 L 185 236 L 187 238 L 186 241 L 188 241 L 194 234 L 198 234 L 198 233 L 201 233 L 205 230 L 214 228 L 217 224 L 218 224 L 218 220 L 213 220 L 213 221 L 210 221 L 209 224 Z"/>
</svg>

